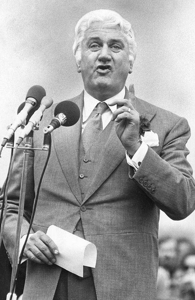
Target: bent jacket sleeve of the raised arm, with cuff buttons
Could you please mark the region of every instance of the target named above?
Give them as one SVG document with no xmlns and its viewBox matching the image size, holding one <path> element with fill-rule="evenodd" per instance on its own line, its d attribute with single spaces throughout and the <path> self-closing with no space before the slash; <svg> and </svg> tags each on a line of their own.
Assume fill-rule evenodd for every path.
<svg viewBox="0 0 195 300">
<path fill-rule="evenodd" d="M 161 156 L 149 147 L 133 176 L 155 204 L 173 220 L 195 209 L 195 182 L 186 157 L 190 137 L 187 120 L 180 118 L 164 138 Z"/>
</svg>

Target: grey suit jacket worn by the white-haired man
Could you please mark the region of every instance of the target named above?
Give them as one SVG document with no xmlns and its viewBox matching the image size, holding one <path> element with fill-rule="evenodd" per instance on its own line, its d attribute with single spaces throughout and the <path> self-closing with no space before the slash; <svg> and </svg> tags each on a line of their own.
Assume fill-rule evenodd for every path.
<svg viewBox="0 0 195 300">
<path fill-rule="evenodd" d="M 70 100 L 82 112 L 83 92 Z M 81 117 L 71 127 L 56 129 L 32 226 L 32 232 L 46 233 L 51 224 L 73 232 L 81 217 L 85 238 L 98 251 L 96 268 L 92 270 L 98 300 L 155 300 L 160 209 L 172 219 L 180 220 L 195 208 L 192 169 L 186 160 L 189 152 L 185 144 L 190 137 L 187 121 L 138 98 L 133 105 L 149 119 L 152 131 L 158 134 L 159 146 L 149 147 L 134 173 L 126 162 L 114 122 L 110 121 L 113 122 L 110 132 L 102 132 L 102 137 L 106 134 L 104 146 L 100 147 L 99 140 L 93 145 L 99 155 L 88 165 L 90 176 L 85 178 L 87 189 L 83 196 L 79 184 Z M 54 108 L 55 105 L 44 113 L 43 127 L 53 118 Z M 34 133 L 34 147 L 42 145 L 40 128 Z M 18 150 L 4 230 L 10 257 L 21 181 L 21 153 Z M 34 188 L 36 191 L 46 156 L 46 152 L 35 151 L 35 157 L 30 157 L 22 235 L 27 233 Z M 85 205 L 86 211 L 80 209 L 81 205 Z M 52 300 L 60 271 L 56 265 L 28 261 L 23 300 Z"/>
</svg>

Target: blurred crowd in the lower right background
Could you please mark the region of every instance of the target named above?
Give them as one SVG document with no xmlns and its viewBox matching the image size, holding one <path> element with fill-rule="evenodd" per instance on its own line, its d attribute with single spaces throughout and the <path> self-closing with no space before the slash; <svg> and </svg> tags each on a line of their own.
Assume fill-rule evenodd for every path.
<svg viewBox="0 0 195 300">
<path fill-rule="evenodd" d="M 190 239 L 159 240 L 157 300 L 195 300 L 195 246 Z"/>
</svg>

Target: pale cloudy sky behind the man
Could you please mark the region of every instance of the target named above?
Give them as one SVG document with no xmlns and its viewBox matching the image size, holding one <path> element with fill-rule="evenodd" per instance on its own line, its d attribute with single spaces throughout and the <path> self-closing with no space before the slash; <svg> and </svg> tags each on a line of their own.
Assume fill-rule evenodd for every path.
<svg viewBox="0 0 195 300">
<path fill-rule="evenodd" d="M 42 85 L 54 102 L 82 91 L 72 53 L 74 27 L 83 14 L 100 8 L 116 10 L 131 22 L 138 55 L 127 86 L 133 83 L 137 97 L 188 120 L 188 160 L 195 170 L 194 0 L 1 0 L 0 140 L 32 85 Z M 10 149 L 1 156 L 0 186 Z M 195 241 L 194 217 L 172 221 L 161 213 L 159 236 L 187 235 Z"/>
</svg>

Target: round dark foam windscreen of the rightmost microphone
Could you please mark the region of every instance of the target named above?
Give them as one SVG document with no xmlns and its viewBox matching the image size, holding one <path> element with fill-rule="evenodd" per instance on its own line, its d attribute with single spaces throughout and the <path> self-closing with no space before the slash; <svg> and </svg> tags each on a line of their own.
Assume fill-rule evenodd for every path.
<svg viewBox="0 0 195 300">
<path fill-rule="evenodd" d="M 72 126 L 76 124 L 80 117 L 80 110 L 76 103 L 72 101 L 62 101 L 60 102 L 54 110 L 54 116 L 58 113 L 63 113 L 67 121 L 62 126 Z"/>
</svg>

